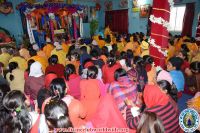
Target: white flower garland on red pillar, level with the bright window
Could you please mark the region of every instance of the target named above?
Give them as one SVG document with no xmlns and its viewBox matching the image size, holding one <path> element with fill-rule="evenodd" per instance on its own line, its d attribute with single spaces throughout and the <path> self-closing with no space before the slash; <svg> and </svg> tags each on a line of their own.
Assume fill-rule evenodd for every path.
<svg viewBox="0 0 200 133">
<path fill-rule="evenodd" d="M 155 17 L 154 15 L 150 15 L 149 19 L 152 23 L 160 24 L 163 27 L 167 28 L 168 31 L 170 30 L 170 23 L 165 21 L 163 18 L 161 17 L 158 18 L 158 17 Z"/>
</svg>

